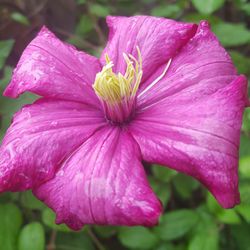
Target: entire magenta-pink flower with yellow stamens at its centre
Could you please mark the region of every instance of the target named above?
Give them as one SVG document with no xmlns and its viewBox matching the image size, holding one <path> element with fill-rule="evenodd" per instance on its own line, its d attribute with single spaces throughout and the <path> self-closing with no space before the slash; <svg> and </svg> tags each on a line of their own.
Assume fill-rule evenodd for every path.
<svg viewBox="0 0 250 250">
<path fill-rule="evenodd" d="M 32 189 L 72 229 L 154 225 L 161 203 L 142 160 L 239 203 L 247 81 L 207 22 L 108 17 L 99 59 L 42 28 L 4 95 L 42 96 L 19 111 L 0 149 L 0 191 Z"/>
</svg>

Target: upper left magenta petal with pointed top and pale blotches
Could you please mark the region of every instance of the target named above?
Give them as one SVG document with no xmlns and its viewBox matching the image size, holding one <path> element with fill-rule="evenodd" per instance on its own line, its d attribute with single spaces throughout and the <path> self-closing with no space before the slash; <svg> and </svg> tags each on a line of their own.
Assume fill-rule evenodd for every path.
<svg viewBox="0 0 250 250">
<path fill-rule="evenodd" d="M 60 41 L 43 27 L 24 50 L 4 95 L 18 97 L 30 91 L 44 97 L 93 103 L 99 60 Z"/>
</svg>

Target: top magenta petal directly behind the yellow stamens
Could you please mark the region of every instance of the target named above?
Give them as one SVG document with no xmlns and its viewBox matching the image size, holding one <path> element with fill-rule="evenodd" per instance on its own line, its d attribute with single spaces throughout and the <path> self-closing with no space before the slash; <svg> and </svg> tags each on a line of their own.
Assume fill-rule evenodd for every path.
<svg viewBox="0 0 250 250">
<path fill-rule="evenodd" d="M 166 64 L 196 31 L 195 24 L 150 16 L 109 16 L 107 24 L 110 34 L 101 57 L 102 64 L 105 64 L 107 53 L 114 63 L 115 72 L 124 73 L 126 64 L 123 53 L 137 57 L 138 46 L 142 54 L 142 81 Z"/>
</svg>

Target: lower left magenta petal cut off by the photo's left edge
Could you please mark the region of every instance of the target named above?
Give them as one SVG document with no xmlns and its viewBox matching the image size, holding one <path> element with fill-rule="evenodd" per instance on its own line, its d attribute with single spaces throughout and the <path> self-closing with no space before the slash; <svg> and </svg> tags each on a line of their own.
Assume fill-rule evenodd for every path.
<svg viewBox="0 0 250 250">
<path fill-rule="evenodd" d="M 0 192 L 26 190 L 53 177 L 104 122 L 102 113 L 71 101 L 41 99 L 22 108 L 0 147 Z"/>
</svg>

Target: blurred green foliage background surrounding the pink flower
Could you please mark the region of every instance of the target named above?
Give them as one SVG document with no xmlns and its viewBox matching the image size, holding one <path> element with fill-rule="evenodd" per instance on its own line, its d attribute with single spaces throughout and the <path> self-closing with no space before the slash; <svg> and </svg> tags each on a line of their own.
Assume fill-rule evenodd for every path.
<svg viewBox="0 0 250 250">
<path fill-rule="evenodd" d="M 147 14 L 192 22 L 207 19 L 239 73 L 250 77 L 247 0 L 0 0 L 0 13 L 1 93 L 22 50 L 43 24 L 79 49 L 98 56 L 105 45 L 105 16 L 109 14 Z M 0 97 L 0 138 L 13 113 L 35 98 L 30 94 L 18 100 Z M 165 208 L 158 226 L 85 226 L 73 232 L 56 225 L 53 211 L 30 191 L 7 193 L 0 196 L 0 250 L 250 249 L 250 110 L 245 112 L 242 127 L 239 206 L 221 208 L 197 181 L 173 170 L 154 165 L 150 172 L 150 183 Z"/>
</svg>

